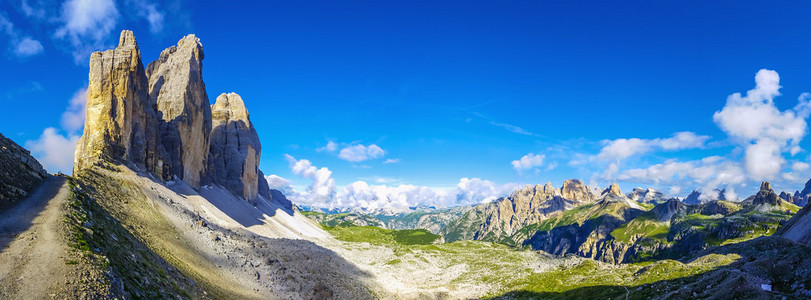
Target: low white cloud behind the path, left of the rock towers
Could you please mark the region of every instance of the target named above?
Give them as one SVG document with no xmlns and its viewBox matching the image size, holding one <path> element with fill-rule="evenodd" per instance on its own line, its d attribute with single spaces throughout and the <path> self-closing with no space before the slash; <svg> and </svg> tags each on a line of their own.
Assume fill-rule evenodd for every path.
<svg viewBox="0 0 811 300">
<path fill-rule="evenodd" d="M 73 153 L 76 151 L 78 136 L 68 137 L 57 133 L 53 127 L 45 128 L 37 140 L 25 142 L 25 148 L 49 172 L 70 174 L 73 170 Z"/>
</svg>

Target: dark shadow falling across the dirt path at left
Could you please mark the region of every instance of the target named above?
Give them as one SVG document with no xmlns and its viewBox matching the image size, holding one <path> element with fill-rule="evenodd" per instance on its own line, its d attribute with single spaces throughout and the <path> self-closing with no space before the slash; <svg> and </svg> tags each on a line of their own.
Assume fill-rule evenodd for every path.
<svg viewBox="0 0 811 300">
<path fill-rule="evenodd" d="M 27 198 L 0 213 L 0 253 L 22 232 L 33 226 L 37 218 L 58 193 L 67 179 L 51 176 L 40 184 Z"/>
</svg>

